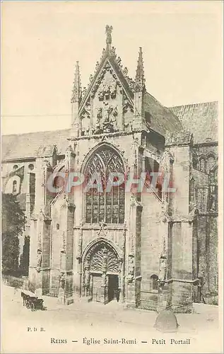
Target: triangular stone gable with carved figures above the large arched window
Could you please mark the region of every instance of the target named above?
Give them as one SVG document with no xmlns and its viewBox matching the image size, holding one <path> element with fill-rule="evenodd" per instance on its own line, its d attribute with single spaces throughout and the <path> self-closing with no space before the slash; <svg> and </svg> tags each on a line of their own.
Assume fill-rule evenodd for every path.
<svg viewBox="0 0 224 354">
<path fill-rule="evenodd" d="M 120 59 L 106 52 L 98 64 L 78 110 L 81 135 L 99 135 L 131 129 L 134 118 L 134 93 L 127 69 Z M 129 81 L 129 82 L 128 82 Z"/>
</svg>

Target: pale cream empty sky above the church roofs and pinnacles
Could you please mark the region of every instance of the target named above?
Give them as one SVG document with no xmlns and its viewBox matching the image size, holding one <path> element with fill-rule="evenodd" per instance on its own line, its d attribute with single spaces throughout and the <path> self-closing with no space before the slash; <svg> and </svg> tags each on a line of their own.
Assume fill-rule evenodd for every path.
<svg viewBox="0 0 224 354">
<path fill-rule="evenodd" d="M 146 89 L 163 105 L 220 98 L 220 1 L 5 2 L 2 4 L 2 134 L 69 128 L 76 60 L 88 84 L 112 45 L 134 77 L 143 47 Z"/>
</svg>

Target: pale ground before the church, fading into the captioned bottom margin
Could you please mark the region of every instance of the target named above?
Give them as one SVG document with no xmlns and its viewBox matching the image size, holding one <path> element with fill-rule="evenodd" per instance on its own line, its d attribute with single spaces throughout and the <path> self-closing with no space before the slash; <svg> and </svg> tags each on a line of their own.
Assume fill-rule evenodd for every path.
<svg viewBox="0 0 224 354">
<path fill-rule="evenodd" d="M 153 327 L 156 312 L 124 309 L 117 302 L 102 305 L 78 301 L 64 306 L 57 303 L 57 298 L 44 298 L 47 311 L 31 312 L 23 307 L 20 290 L 14 293 L 12 287 L 2 285 L 2 353 L 222 352 L 218 307 L 201 304 L 194 314 L 177 314 L 177 333 L 161 333 Z M 85 338 L 100 343 L 87 345 L 83 343 Z M 170 344 L 170 339 L 186 338 L 189 345 Z M 111 340 L 131 342 L 105 343 Z"/>
</svg>

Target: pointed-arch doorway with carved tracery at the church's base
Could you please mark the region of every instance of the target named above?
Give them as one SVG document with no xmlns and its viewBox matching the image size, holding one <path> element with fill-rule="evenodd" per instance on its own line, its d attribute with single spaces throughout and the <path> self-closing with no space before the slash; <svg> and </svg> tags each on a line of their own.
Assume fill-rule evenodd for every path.
<svg viewBox="0 0 224 354">
<path fill-rule="evenodd" d="M 83 260 L 83 296 L 102 304 L 119 301 L 121 264 L 117 252 L 106 241 L 94 244 Z"/>
</svg>

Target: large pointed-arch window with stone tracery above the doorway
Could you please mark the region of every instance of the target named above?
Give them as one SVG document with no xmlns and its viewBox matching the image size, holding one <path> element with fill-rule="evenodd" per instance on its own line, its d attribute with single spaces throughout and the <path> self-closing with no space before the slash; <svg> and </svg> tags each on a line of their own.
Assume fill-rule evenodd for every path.
<svg viewBox="0 0 224 354">
<path fill-rule="evenodd" d="M 124 223 L 124 183 L 112 187 L 110 192 L 105 188 L 110 173 L 115 172 L 124 173 L 124 166 L 119 154 L 110 147 L 98 149 L 88 161 L 85 171 L 86 183 L 93 182 L 93 176 L 98 173 L 102 181 L 102 191 L 90 188 L 86 192 L 87 223 Z"/>
</svg>

